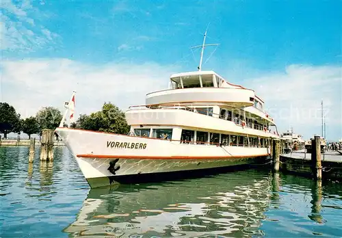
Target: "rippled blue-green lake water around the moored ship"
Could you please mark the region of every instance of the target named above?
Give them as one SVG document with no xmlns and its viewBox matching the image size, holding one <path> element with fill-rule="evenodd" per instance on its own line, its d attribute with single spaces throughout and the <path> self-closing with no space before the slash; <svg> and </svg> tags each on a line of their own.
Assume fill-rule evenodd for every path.
<svg viewBox="0 0 342 238">
<path fill-rule="evenodd" d="M 341 237 L 342 185 L 262 170 L 90 189 L 66 147 L 0 147 L 0 237 Z"/>
</svg>

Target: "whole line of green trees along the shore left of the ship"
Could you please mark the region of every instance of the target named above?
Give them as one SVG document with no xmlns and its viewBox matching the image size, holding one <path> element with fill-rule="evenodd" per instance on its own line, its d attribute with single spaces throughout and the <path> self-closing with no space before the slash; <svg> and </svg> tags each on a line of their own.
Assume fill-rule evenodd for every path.
<svg viewBox="0 0 342 238">
<path fill-rule="evenodd" d="M 21 118 L 16 109 L 8 103 L 0 103 L 0 133 L 7 138 L 8 133 L 26 133 L 29 138 L 32 134 L 41 135 L 43 129 L 56 129 L 62 120 L 62 113 L 55 107 L 43 107 L 37 111 L 36 116 Z M 64 124 L 64 127 L 68 127 Z M 129 133 L 124 112 L 116 105 L 104 103 L 101 111 L 90 115 L 81 114 L 76 122 L 69 125 L 74 129 L 92 131 L 105 131 L 118 134 Z"/>
</svg>

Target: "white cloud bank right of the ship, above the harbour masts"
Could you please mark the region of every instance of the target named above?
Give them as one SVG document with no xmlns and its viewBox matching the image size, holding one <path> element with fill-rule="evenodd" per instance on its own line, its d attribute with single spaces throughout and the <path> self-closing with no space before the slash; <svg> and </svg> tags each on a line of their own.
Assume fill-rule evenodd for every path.
<svg viewBox="0 0 342 238">
<path fill-rule="evenodd" d="M 340 66 L 291 65 L 285 72 L 273 72 L 245 80 L 265 101 L 281 131 L 311 137 L 321 134 L 321 99 L 324 103 L 327 137 L 342 137 L 342 68 Z"/>
</svg>

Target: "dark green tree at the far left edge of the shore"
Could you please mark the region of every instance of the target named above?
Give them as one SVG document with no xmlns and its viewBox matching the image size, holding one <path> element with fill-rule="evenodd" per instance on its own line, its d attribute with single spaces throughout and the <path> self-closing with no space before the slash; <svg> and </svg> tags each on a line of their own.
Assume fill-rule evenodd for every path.
<svg viewBox="0 0 342 238">
<path fill-rule="evenodd" d="M 8 103 L 0 103 L 0 133 L 7 138 L 8 133 L 20 132 L 20 129 L 20 114 L 17 114 L 16 109 Z"/>
</svg>

